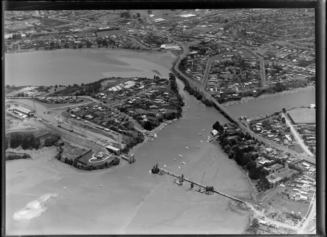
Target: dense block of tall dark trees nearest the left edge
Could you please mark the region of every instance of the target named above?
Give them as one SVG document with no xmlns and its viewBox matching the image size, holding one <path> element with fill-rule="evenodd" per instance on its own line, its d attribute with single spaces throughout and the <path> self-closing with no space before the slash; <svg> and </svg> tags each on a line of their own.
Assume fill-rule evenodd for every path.
<svg viewBox="0 0 327 237">
<path fill-rule="evenodd" d="M 8 141 L 6 148 L 8 146 Z M 18 148 L 21 146 L 23 149 L 35 148 L 38 149 L 41 146 L 40 139 L 35 137 L 33 133 L 12 133 L 10 134 L 10 148 Z"/>
</svg>

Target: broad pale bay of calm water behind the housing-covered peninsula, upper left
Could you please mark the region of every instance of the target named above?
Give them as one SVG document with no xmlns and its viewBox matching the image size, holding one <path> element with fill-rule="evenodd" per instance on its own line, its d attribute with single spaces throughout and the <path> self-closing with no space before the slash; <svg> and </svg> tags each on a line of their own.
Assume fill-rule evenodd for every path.
<svg viewBox="0 0 327 237">
<path fill-rule="evenodd" d="M 74 58 L 77 57 L 78 61 L 81 61 L 82 63 L 86 62 L 86 68 L 88 68 L 88 71 L 85 71 L 82 77 L 77 77 L 75 74 L 72 74 L 69 72 L 68 68 L 65 66 L 62 71 L 62 75 L 59 78 L 58 81 L 56 81 L 56 84 L 62 84 L 67 86 L 68 84 L 87 84 L 90 82 L 97 82 L 104 78 L 113 78 L 113 77 L 121 77 L 121 78 L 132 78 L 132 77 L 147 77 L 147 78 L 153 78 L 153 74 L 156 74 L 156 71 L 153 71 L 153 69 L 157 70 L 162 76 L 161 78 L 168 78 L 168 73 L 170 73 L 170 68 L 172 67 L 173 63 L 178 59 L 175 55 L 173 55 L 169 51 L 142 51 L 142 50 L 131 50 L 131 49 L 109 49 L 109 48 L 82 48 L 82 49 L 57 49 L 57 50 L 51 50 L 50 52 L 48 50 L 48 53 L 46 51 L 43 51 L 41 53 L 31 53 L 33 51 L 28 51 L 31 54 L 25 54 L 19 56 L 18 54 L 5 54 L 5 60 L 6 60 L 6 75 L 5 75 L 5 84 L 8 85 L 15 85 L 18 87 L 24 87 L 22 86 L 18 81 L 18 76 L 20 74 L 17 74 L 16 76 L 11 78 L 11 73 L 14 72 L 13 69 L 13 63 L 14 60 L 18 60 L 18 64 L 22 63 L 22 60 L 29 60 L 29 58 L 35 59 L 35 63 L 40 63 L 40 65 L 43 65 L 44 67 L 44 61 L 40 61 L 40 58 L 48 59 L 49 57 L 52 57 L 52 54 L 55 55 L 56 59 L 60 59 L 64 57 L 65 55 L 70 55 Z M 35 51 L 34 51 L 35 52 Z M 89 56 L 90 55 L 90 56 Z M 90 65 L 92 63 L 97 63 L 98 59 L 102 58 L 108 58 L 109 61 L 106 63 L 106 61 L 103 61 L 103 63 L 98 64 L 98 69 L 94 70 Z M 111 59 L 113 61 L 111 61 Z M 65 59 L 67 61 L 68 59 Z M 121 64 L 116 62 L 118 61 L 124 61 L 128 64 Z M 102 62 L 101 61 L 101 62 Z M 31 66 L 34 67 L 34 64 L 32 63 Z M 105 66 L 105 65 L 106 66 Z M 11 66 L 10 66 L 11 65 Z M 84 65 L 84 64 L 83 64 Z M 127 66 L 128 65 L 128 66 Z M 61 63 L 56 62 L 54 63 L 54 67 L 63 66 Z M 53 68 L 54 68 L 53 67 Z M 77 62 L 72 63 L 72 67 L 74 70 L 86 70 L 83 69 L 83 67 L 78 64 Z M 22 71 L 31 70 L 28 69 L 26 66 L 22 68 Z M 70 68 L 71 70 L 71 68 Z M 44 69 L 41 70 L 41 72 L 44 71 Z M 52 69 L 45 70 L 47 73 L 55 73 Z M 109 73 L 110 71 L 110 73 Z M 28 86 L 55 86 L 55 81 L 36 81 L 35 78 L 41 77 L 40 72 L 35 74 L 36 76 L 34 79 L 29 80 L 30 82 L 26 82 Z M 159 75 L 159 74 L 158 74 Z M 63 78 L 70 78 L 68 81 L 63 81 Z M 50 77 L 53 79 L 53 77 Z M 91 79 L 90 79 L 91 78 Z M 24 82 L 23 82 L 24 83 Z M 22 84 L 23 84 L 22 83 Z M 25 85 L 25 86 L 27 86 Z"/>
</svg>

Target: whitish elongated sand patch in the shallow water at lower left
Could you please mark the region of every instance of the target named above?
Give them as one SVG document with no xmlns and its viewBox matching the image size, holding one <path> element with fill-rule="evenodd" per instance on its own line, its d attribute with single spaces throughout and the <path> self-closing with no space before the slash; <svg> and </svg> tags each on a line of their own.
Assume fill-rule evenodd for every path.
<svg viewBox="0 0 327 237">
<path fill-rule="evenodd" d="M 16 211 L 12 216 L 18 221 L 27 221 L 42 215 L 46 211 L 46 204 L 59 198 L 57 193 L 47 193 L 40 198 L 28 203 L 26 207 Z"/>
</svg>

